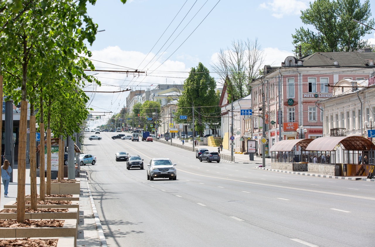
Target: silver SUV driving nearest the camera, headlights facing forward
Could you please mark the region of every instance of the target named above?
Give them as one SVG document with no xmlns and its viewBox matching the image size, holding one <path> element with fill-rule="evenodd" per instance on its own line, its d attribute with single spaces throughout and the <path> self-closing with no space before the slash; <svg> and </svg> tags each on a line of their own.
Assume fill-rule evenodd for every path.
<svg viewBox="0 0 375 247">
<path fill-rule="evenodd" d="M 168 158 L 153 158 L 147 165 L 147 180 L 153 181 L 154 178 L 177 179 L 176 164 L 172 164 Z"/>
</svg>

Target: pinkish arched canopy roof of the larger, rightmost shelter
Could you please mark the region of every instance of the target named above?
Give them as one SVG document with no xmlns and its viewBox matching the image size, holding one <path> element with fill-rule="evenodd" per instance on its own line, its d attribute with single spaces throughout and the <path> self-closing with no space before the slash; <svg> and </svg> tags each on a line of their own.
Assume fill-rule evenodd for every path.
<svg viewBox="0 0 375 247">
<path fill-rule="evenodd" d="M 345 150 L 370 150 L 375 149 L 374 143 L 362 136 L 329 136 L 320 137 L 312 141 L 306 150 L 333 151 L 339 146 Z"/>
</svg>

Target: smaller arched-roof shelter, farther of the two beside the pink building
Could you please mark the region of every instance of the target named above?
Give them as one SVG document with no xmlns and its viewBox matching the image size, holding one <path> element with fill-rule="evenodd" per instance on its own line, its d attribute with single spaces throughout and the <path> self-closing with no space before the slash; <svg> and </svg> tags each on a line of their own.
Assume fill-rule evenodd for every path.
<svg viewBox="0 0 375 247">
<path fill-rule="evenodd" d="M 279 141 L 270 149 L 271 168 L 285 171 L 308 171 L 306 147 L 314 139 L 291 139 Z"/>
</svg>

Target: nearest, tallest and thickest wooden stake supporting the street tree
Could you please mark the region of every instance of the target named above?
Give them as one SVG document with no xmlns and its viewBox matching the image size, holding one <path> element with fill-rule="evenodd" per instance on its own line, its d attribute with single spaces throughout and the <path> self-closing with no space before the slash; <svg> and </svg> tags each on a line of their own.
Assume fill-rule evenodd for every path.
<svg viewBox="0 0 375 247">
<path fill-rule="evenodd" d="M 27 101 L 22 100 L 20 115 L 20 135 L 18 141 L 17 222 L 25 221 L 26 133 Z"/>
</svg>

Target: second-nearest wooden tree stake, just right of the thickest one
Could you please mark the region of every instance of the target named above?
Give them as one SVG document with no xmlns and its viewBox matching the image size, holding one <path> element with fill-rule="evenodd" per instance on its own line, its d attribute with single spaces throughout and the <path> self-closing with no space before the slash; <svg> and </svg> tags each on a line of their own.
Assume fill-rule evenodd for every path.
<svg viewBox="0 0 375 247">
<path fill-rule="evenodd" d="M 30 191 L 31 208 L 36 210 L 36 141 L 35 141 L 35 115 L 30 116 Z"/>
</svg>

